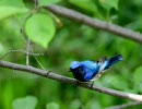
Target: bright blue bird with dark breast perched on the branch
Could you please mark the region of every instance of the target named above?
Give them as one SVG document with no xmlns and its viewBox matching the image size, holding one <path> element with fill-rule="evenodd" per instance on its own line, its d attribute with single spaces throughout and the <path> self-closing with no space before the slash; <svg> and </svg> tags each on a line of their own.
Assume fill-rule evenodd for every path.
<svg viewBox="0 0 142 109">
<path fill-rule="evenodd" d="M 100 74 L 109 69 L 114 63 L 121 61 L 123 58 L 121 55 L 117 55 L 113 58 L 102 58 L 99 61 L 73 61 L 70 65 L 70 71 L 73 76 L 80 82 L 90 82 L 93 78 L 100 76 Z"/>
</svg>

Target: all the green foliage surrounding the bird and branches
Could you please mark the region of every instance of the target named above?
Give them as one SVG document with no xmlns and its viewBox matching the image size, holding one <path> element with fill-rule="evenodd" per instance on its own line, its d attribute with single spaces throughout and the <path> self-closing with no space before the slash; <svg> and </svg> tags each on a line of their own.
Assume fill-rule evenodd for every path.
<svg viewBox="0 0 142 109">
<path fill-rule="evenodd" d="M 34 0 L 33 0 L 34 1 Z M 0 56 L 26 50 L 27 37 L 38 62 L 64 76 L 73 77 L 73 60 L 98 60 L 121 53 L 125 60 L 107 71 L 95 85 L 142 94 L 142 46 L 110 33 L 34 10 L 32 0 L 0 1 Z M 39 0 L 39 7 L 57 3 L 85 15 L 142 32 L 141 0 Z M 25 35 L 20 29 L 23 27 Z M 26 37 L 24 37 L 26 36 Z M 25 38 L 25 40 L 24 40 Z M 25 64 L 25 53 L 10 52 L 4 61 Z M 40 68 L 34 56 L 29 64 Z M 0 68 L 0 109 L 103 109 L 130 100 L 113 97 L 26 72 Z M 142 105 L 129 109 L 141 109 Z"/>
</svg>

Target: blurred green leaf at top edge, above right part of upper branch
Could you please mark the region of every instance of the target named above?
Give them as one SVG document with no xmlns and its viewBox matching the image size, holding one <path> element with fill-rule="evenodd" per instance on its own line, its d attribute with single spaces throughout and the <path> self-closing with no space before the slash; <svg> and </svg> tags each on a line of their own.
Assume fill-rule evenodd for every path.
<svg viewBox="0 0 142 109">
<path fill-rule="evenodd" d="M 99 0 L 99 3 L 106 10 L 116 9 L 118 10 L 118 0 Z"/>
</svg>

